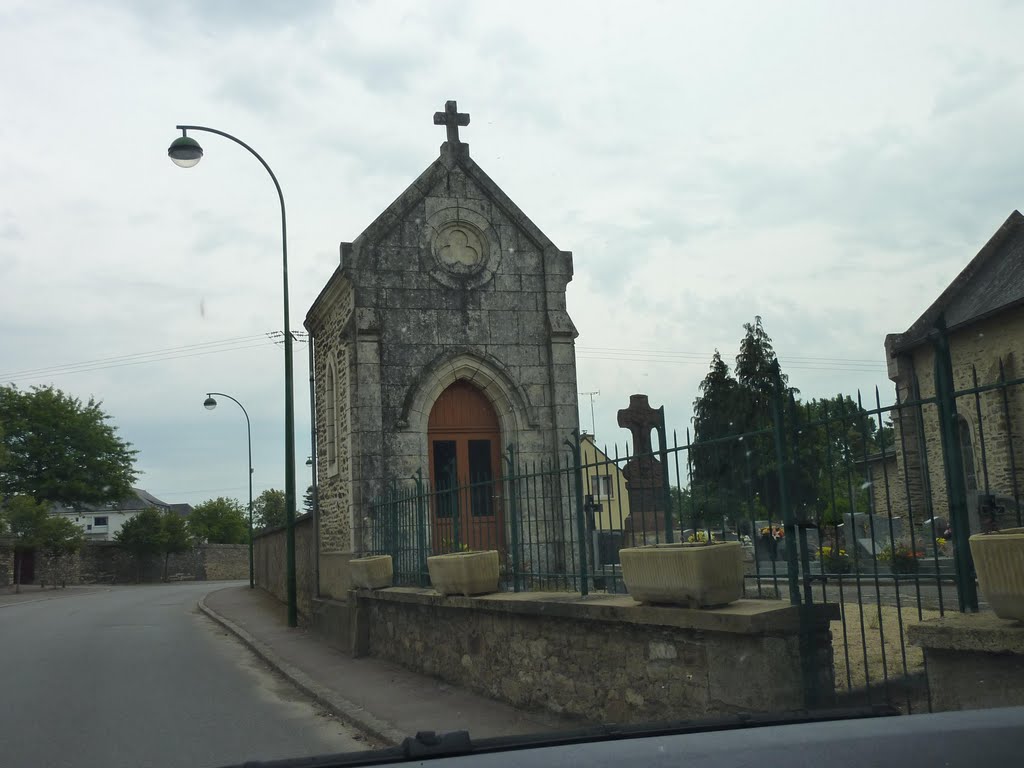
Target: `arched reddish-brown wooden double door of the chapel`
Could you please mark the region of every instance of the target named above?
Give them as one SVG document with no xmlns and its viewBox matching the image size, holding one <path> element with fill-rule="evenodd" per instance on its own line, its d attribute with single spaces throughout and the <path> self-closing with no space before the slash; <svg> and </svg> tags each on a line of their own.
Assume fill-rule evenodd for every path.
<svg viewBox="0 0 1024 768">
<path fill-rule="evenodd" d="M 456 381 L 437 397 L 427 422 L 432 549 L 504 549 L 501 429 L 487 397 Z"/>
</svg>

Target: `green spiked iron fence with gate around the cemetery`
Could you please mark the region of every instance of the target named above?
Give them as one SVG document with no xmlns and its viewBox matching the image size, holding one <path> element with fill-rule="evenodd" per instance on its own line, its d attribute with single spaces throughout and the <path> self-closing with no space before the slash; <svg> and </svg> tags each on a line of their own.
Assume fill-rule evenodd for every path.
<svg viewBox="0 0 1024 768">
<path fill-rule="evenodd" d="M 371 551 L 393 556 L 399 585 L 427 586 L 431 554 L 497 549 L 503 590 L 587 595 L 625 592 L 622 547 L 740 541 L 749 597 L 839 604 L 841 699 L 928 710 L 907 624 L 977 610 L 969 537 L 1024 524 L 1024 379 L 1000 364 L 956 389 L 939 352 L 933 391 L 914 380 L 889 404 L 877 391 L 800 403 L 779 384 L 760 415 L 682 440 L 658 427 L 645 455 L 573 435 L 557 462 L 509 447 L 500 474 L 468 483 L 418 473 L 373 501 Z M 808 706 L 827 700 L 815 681 L 809 668 Z"/>
</svg>

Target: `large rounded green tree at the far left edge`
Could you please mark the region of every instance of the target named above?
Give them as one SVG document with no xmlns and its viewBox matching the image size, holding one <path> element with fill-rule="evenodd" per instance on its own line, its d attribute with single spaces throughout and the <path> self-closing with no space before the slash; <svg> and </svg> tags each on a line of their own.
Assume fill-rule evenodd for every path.
<svg viewBox="0 0 1024 768">
<path fill-rule="evenodd" d="M 0 387 L 0 498 L 75 506 L 128 496 L 137 452 L 118 437 L 100 404 L 52 387 Z"/>
</svg>

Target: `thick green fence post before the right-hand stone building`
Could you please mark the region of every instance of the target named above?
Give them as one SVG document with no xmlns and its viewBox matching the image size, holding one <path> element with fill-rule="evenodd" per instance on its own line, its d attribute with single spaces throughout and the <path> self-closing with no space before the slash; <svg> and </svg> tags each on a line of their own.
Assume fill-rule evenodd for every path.
<svg viewBox="0 0 1024 768">
<path fill-rule="evenodd" d="M 978 611 L 978 588 L 971 561 L 971 521 L 967 513 L 967 486 L 964 482 L 964 457 L 961 453 L 953 385 L 953 361 L 949 353 L 945 317 L 940 315 L 932 337 L 935 350 L 935 399 L 939 410 L 939 436 L 942 440 L 942 464 L 946 475 L 946 499 L 953 531 L 953 560 L 956 563 L 956 599 L 962 612 Z"/>
</svg>

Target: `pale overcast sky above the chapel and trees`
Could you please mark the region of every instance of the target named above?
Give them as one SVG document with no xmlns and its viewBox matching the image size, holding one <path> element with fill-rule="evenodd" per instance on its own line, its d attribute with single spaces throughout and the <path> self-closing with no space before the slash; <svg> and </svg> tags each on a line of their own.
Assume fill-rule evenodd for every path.
<svg viewBox="0 0 1024 768">
<path fill-rule="evenodd" d="M 685 429 L 756 314 L 804 396 L 888 401 L 885 335 L 1021 205 L 1022 25 L 1017 2 L 3 0 L 0 380 L 101 399 L 169 502 L 245 500 L 245 419 L 202 408 L 227 392 L 255 492 L 282 487 L 276 197 L 216 136 L 173 166 L 174 126 L 274 169 L 301 330 L 456 98 L 476 162 L 573 253 L 599 442 L 632 392 Z"/>
</svg>

